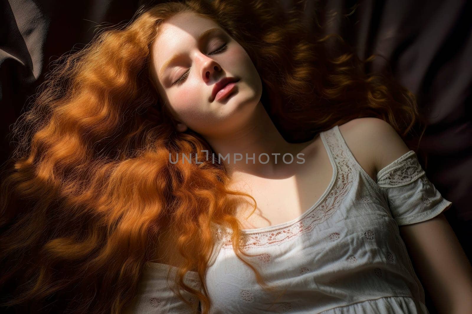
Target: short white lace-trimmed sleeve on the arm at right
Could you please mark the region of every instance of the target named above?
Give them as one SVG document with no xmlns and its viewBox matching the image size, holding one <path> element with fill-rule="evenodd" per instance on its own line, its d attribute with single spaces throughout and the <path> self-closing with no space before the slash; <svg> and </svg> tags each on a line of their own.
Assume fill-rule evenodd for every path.
<svg viewBox="0 0 472 314">
<path fill-rule="evenodd" d="M 452 205 L 428 180 L 413 150 L 381 169 L 377 184 L 399 226 L 429 220 Z"/>
</svg>

